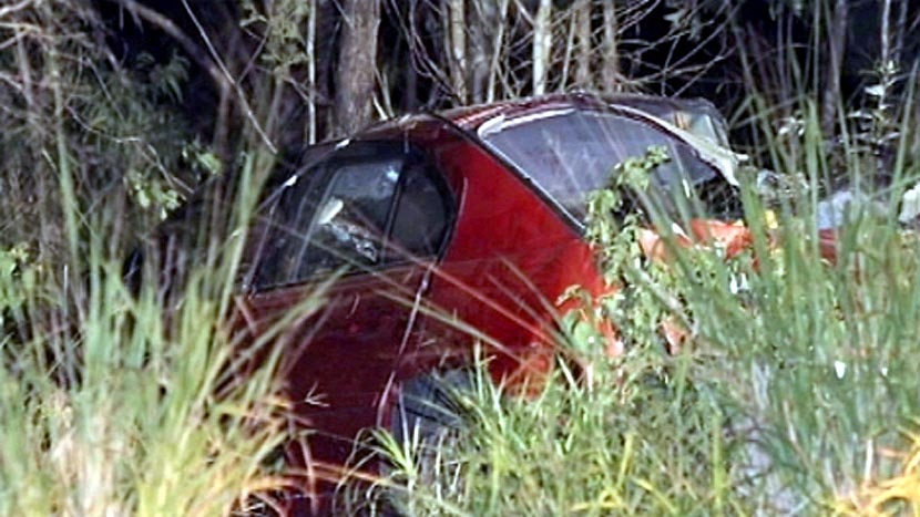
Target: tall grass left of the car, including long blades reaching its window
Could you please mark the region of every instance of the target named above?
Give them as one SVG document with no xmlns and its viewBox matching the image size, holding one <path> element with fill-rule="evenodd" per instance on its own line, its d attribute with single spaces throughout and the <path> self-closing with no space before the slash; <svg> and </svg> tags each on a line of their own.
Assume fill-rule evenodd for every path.
<svg viewBox="0 0 920 517">
<path fill-rule="evenodd" d="M 232 225 L 245 228 L 254 203 L 241 196 Z M 4 333 L 0 355 L 0 515 L 223 516 L 269 504 L 287 484 L 270 461 L 289 432 L 278 351 L 239 366 L 272 332 L 253 343 L 227 323 L 242 239 L 193 265 L 164 306 L 155 276 L 131 292 L 106 257 L 106 226 L 93 227 L 63 281 L 6 257 L 4 323 L 24 330 Z"/>
</svg>

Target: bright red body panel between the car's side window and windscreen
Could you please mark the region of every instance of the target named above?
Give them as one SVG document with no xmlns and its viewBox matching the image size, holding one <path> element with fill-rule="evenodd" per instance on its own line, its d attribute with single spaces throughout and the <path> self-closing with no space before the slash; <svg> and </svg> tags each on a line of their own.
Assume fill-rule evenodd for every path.
<svg viewBox="0 0 920 517">
<path fill-rule="evenodd" d="M 520 379 L 522 365 L 533 368 L 530 359 L 545 355 L 545 327 L 559 296 L 575 283 L 602 283 L 593 255 L 574 228 L 484 149 L 453 149 L 439 159 L 463 182 L 454 234 L 429 299 L 501 345 L 490 365 L 497 381 Z"/>
</svg>

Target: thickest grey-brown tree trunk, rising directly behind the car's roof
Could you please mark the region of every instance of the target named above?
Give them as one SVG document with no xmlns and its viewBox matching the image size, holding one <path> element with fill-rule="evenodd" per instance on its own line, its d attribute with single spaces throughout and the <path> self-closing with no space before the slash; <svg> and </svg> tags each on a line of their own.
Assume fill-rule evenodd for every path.
<svg viewBox="0 0 920 517">
<path fill-rule="evenodd" d="M 343 31 L 336 72 L 339 133 L 350 134 L 371 120 L 377 71 L 379 0 L 343 0 Z"/>
</svg>

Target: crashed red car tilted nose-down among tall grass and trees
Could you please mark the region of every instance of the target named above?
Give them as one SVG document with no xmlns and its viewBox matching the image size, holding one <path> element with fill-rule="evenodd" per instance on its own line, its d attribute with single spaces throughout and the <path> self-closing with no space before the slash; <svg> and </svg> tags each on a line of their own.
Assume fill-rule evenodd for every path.
<svg viewBox="0 0 920 517">
<path fill-rule="evenodd" d="M 290 461 L 340 465 L 361 430 L 437 420 L 423 402 L 432 372 L 469 365 L 476 342 L 497 382 L 545 373 L 556 300 L 573 285 L 606 289 L 583 238 L 586 196 L 653 145 L 671 159 L 651 188 L 706 205 L 696 193 L 735 183 L 711 104 L 637 95 L 412 115 L 282 161 L 249 232 L 236 321 L 257 334 L 341 275 L 321 313 L 286 332 L 287 395 L 316 430 Z"/>
</svg>

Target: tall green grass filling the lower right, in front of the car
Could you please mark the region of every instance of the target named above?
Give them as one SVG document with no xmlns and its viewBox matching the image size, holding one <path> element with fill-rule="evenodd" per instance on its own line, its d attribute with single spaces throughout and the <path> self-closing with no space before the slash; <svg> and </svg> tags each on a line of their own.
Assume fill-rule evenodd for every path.
<svg viewBox="0 0 920 517">
<path fill-rule="evenodd" d="M 561 365 L 535 400 L 480 376 L 457 395 L 466 424 L 450 440 L 388 442 L 388 497 L 409 515 L 918 511 L 920 238 L 887 203 L 917 174 L 900 161 L 900 183 L 871 190 L 877 162 L 849 147 L 839 159 L 866 175 L 871 203 L 848 208 L 837 258 L 824 259 L 816 199 L 834 165 L 803 113 L 801 141 L 773 151 L 810 188 L 767 207 L 747 178 L 748 251 L 726 260 L 671 236 L 665 268 L 621 262 L 633 304 L 613 316 L 627 352 L 590 356 L 590 384 Z M 667 319 L 689 324 L 675 355 L 657 327 Z M 584 355 L 584 339 L 560 347 Z"/>
</svg>

